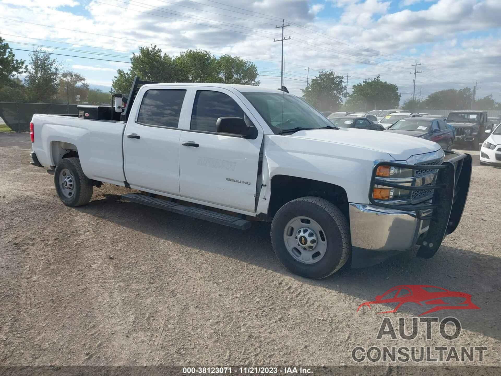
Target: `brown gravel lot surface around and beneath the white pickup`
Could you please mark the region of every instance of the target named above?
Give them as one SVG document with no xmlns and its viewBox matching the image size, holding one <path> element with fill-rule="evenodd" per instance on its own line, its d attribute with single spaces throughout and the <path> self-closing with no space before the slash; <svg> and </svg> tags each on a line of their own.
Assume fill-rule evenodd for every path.
<svg viewBox="0 0 501 376">
<path fill-rule="evenodd" d="M 312 281 L 280 265 L 268 224 L 240 232 L 121 201 L 128 190 L 110 184 L 65 207 L 30 148 L 28 134 L 0 134 L 0 365 L 340 365 L 359 345 L 487 346 L 484 364 L 500 363 L 501 170 L 478 156 L 461 224 L 435 257 Z M 437 328 L 425 340 L 424 326 L 376 340 L 388 308 L 357 307 L 406 284 L 469 293 L 480 309 L 427 315 L 460 320 L 452 341 Z"/>
</svg>

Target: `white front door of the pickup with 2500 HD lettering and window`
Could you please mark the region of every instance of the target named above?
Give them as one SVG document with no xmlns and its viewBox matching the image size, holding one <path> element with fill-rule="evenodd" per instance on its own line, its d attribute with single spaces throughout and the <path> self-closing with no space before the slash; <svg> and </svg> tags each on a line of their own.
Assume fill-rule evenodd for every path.
<svg viewBox="0 0 501 376">
<path fill-rule="evenodd" d="M 219 117 L 244 118 L 246 114 L 245 105 L 229 90 L 207 87 L 196 91 L 189 130 L 183 130 L 179 140 L 182 197 L 255 211 L 263 132 L 258 126 L 254 139 L 216 132 Z"/>
</svg>

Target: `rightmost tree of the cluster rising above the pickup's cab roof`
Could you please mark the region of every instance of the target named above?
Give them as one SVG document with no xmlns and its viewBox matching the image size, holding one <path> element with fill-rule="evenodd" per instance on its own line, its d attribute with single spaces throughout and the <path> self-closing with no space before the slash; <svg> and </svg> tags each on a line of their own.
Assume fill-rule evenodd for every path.
<svg viewBox="0 0 501 376">
<path fill-rule="evenodd" d="M 221 55 L 217 59 L 217 70 L 221 82 L 224 84 L 260 85 L 260 81 L 257 81 L 258 68 L 249 60 L 231 55 Z"/>
</svg>

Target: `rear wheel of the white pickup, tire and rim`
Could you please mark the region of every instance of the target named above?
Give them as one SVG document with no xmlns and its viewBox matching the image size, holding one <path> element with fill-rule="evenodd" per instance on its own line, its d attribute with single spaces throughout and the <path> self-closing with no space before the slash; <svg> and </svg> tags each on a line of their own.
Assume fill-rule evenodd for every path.
<svg viewBox="0 0 501 376">
<path fill-rule="evenodd" d="M 85 205 L 92 198 L 92 181 L 82 171 L 79 158 L 64 158 L 59 162 L 54 171 L 54 184 L 66 206 Z"/>
</svg>

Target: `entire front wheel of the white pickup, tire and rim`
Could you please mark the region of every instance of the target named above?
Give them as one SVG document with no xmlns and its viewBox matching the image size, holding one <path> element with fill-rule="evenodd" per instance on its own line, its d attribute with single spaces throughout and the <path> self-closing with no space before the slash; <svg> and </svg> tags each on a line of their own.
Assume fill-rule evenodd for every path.
<svg viewBox="0 0 501 376">
<path fill-rule="evenodd" d="M 302 197 L 280 208 L 273 218 L 271 238 L 282 264 L 306 278 L 330 276 L 351 253 L 346 217 L 319 197 Z"/>
</svg>

